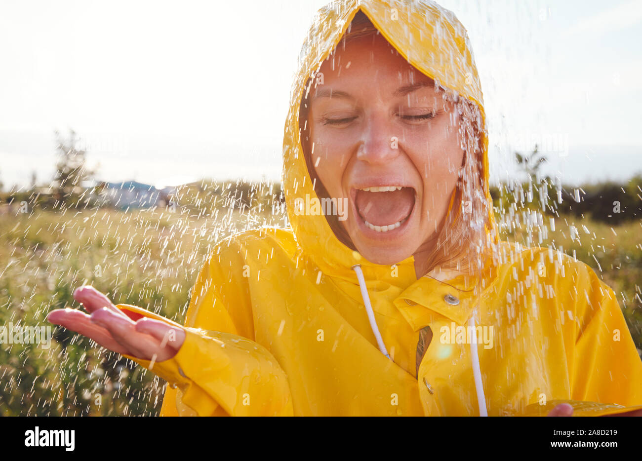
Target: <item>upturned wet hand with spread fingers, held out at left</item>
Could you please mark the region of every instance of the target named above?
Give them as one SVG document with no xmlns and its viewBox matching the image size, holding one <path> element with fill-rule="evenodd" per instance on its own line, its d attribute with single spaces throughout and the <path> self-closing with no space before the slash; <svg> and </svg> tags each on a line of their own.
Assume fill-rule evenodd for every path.
<svg viewBox="0 0 642 461">
<path fill-rule="evenodd" d="M 185 340 L 185 330 L 173 324 L 153 318 L 134 322 L 92 286 L 76 288 L 73 297 L 87 313 L 55 309 L 47 320 L 87 336 L 110 351 L 163 361 L 175 356 Z"/>
</svg>

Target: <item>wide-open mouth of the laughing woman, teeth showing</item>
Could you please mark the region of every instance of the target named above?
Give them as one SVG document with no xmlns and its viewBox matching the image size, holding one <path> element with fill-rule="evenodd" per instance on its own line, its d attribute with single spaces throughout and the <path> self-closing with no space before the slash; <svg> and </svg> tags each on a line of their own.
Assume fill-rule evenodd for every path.
<svg viewBox="0 0 642 461">
<path fill-rule="evenodd" d="M 415 189 L 406 186 L 369 186 L 355 189 L 354 205 L 366 227 L 390 232 L 401 227 L 415 207 Z"/>
</svg>

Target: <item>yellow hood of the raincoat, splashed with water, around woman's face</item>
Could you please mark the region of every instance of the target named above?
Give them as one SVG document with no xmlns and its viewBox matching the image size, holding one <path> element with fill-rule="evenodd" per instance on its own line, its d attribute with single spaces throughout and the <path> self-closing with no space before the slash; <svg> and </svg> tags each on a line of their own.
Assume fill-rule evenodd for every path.
<svg viewBox="0 0 642 461">
<path fill-rule="evenodd" d="M 431 1 L 339 0 L 322 8 L 315 17 L 299 56 L 299 70 L 291 91 L 290 110 L 286 119 L 283 143 L 283 184 L 288 218 L 297 242 L 320 269 L 331 275 L 354 280 L 351 270 L 359 264 L 365 279 L 383 281 L 390 277 L 390 267 L 370 263 L 336 238 L 323 215 L 295 213 L 298 200 L 320 200 L 313 189 L 299 126 L 300 103 L 306 82 L 313 78 L 352 18 L 358 11 L 367 15 L 386 40 L 416 69 L 442 87 L 473 101 L 483 112 L 483 95 L 473 51 L 464 26 L 455 15 Z M 485 130 L 484 130 L 485 131 Z M 497 232 L 489 193 L 489 168 L 485 132 L 482 133 L 483 182 L 489 209 L 489 238 Z M 412 281 L 414 257 L 397 263 L 401 277 Z M 405 278 L 404 277 L 404 278 Z M 415 277 L 416 279 L 416 277 Z"/>
</svg>

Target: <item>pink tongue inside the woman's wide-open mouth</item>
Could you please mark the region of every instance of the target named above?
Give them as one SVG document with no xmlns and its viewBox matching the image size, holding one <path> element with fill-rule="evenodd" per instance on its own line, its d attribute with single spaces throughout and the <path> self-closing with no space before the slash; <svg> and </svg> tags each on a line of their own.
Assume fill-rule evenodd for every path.
<svg viewBox="0 0 642 461">
<path fill-rule="evenodd" d="M 394 224 L 407 218 L 415 205 L 412 187 L 402 187 L 392 192 L 367 192 L 358 190 L 356 207 L 361 217 L 372 225 Z"/>
</svg>

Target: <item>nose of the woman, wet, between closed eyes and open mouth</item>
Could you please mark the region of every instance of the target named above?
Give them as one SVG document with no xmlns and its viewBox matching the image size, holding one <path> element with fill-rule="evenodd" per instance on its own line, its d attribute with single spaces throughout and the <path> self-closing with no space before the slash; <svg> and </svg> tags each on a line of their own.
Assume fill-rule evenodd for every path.
<svg viewBox="0 0 642 461">
<path fill-rule="evenodd" d="M 388 117 L 370 114 L 361 134 L 357 159 L 370 164 L 386 164 L 399 155 L 398 143 Z"/>
</svg>

